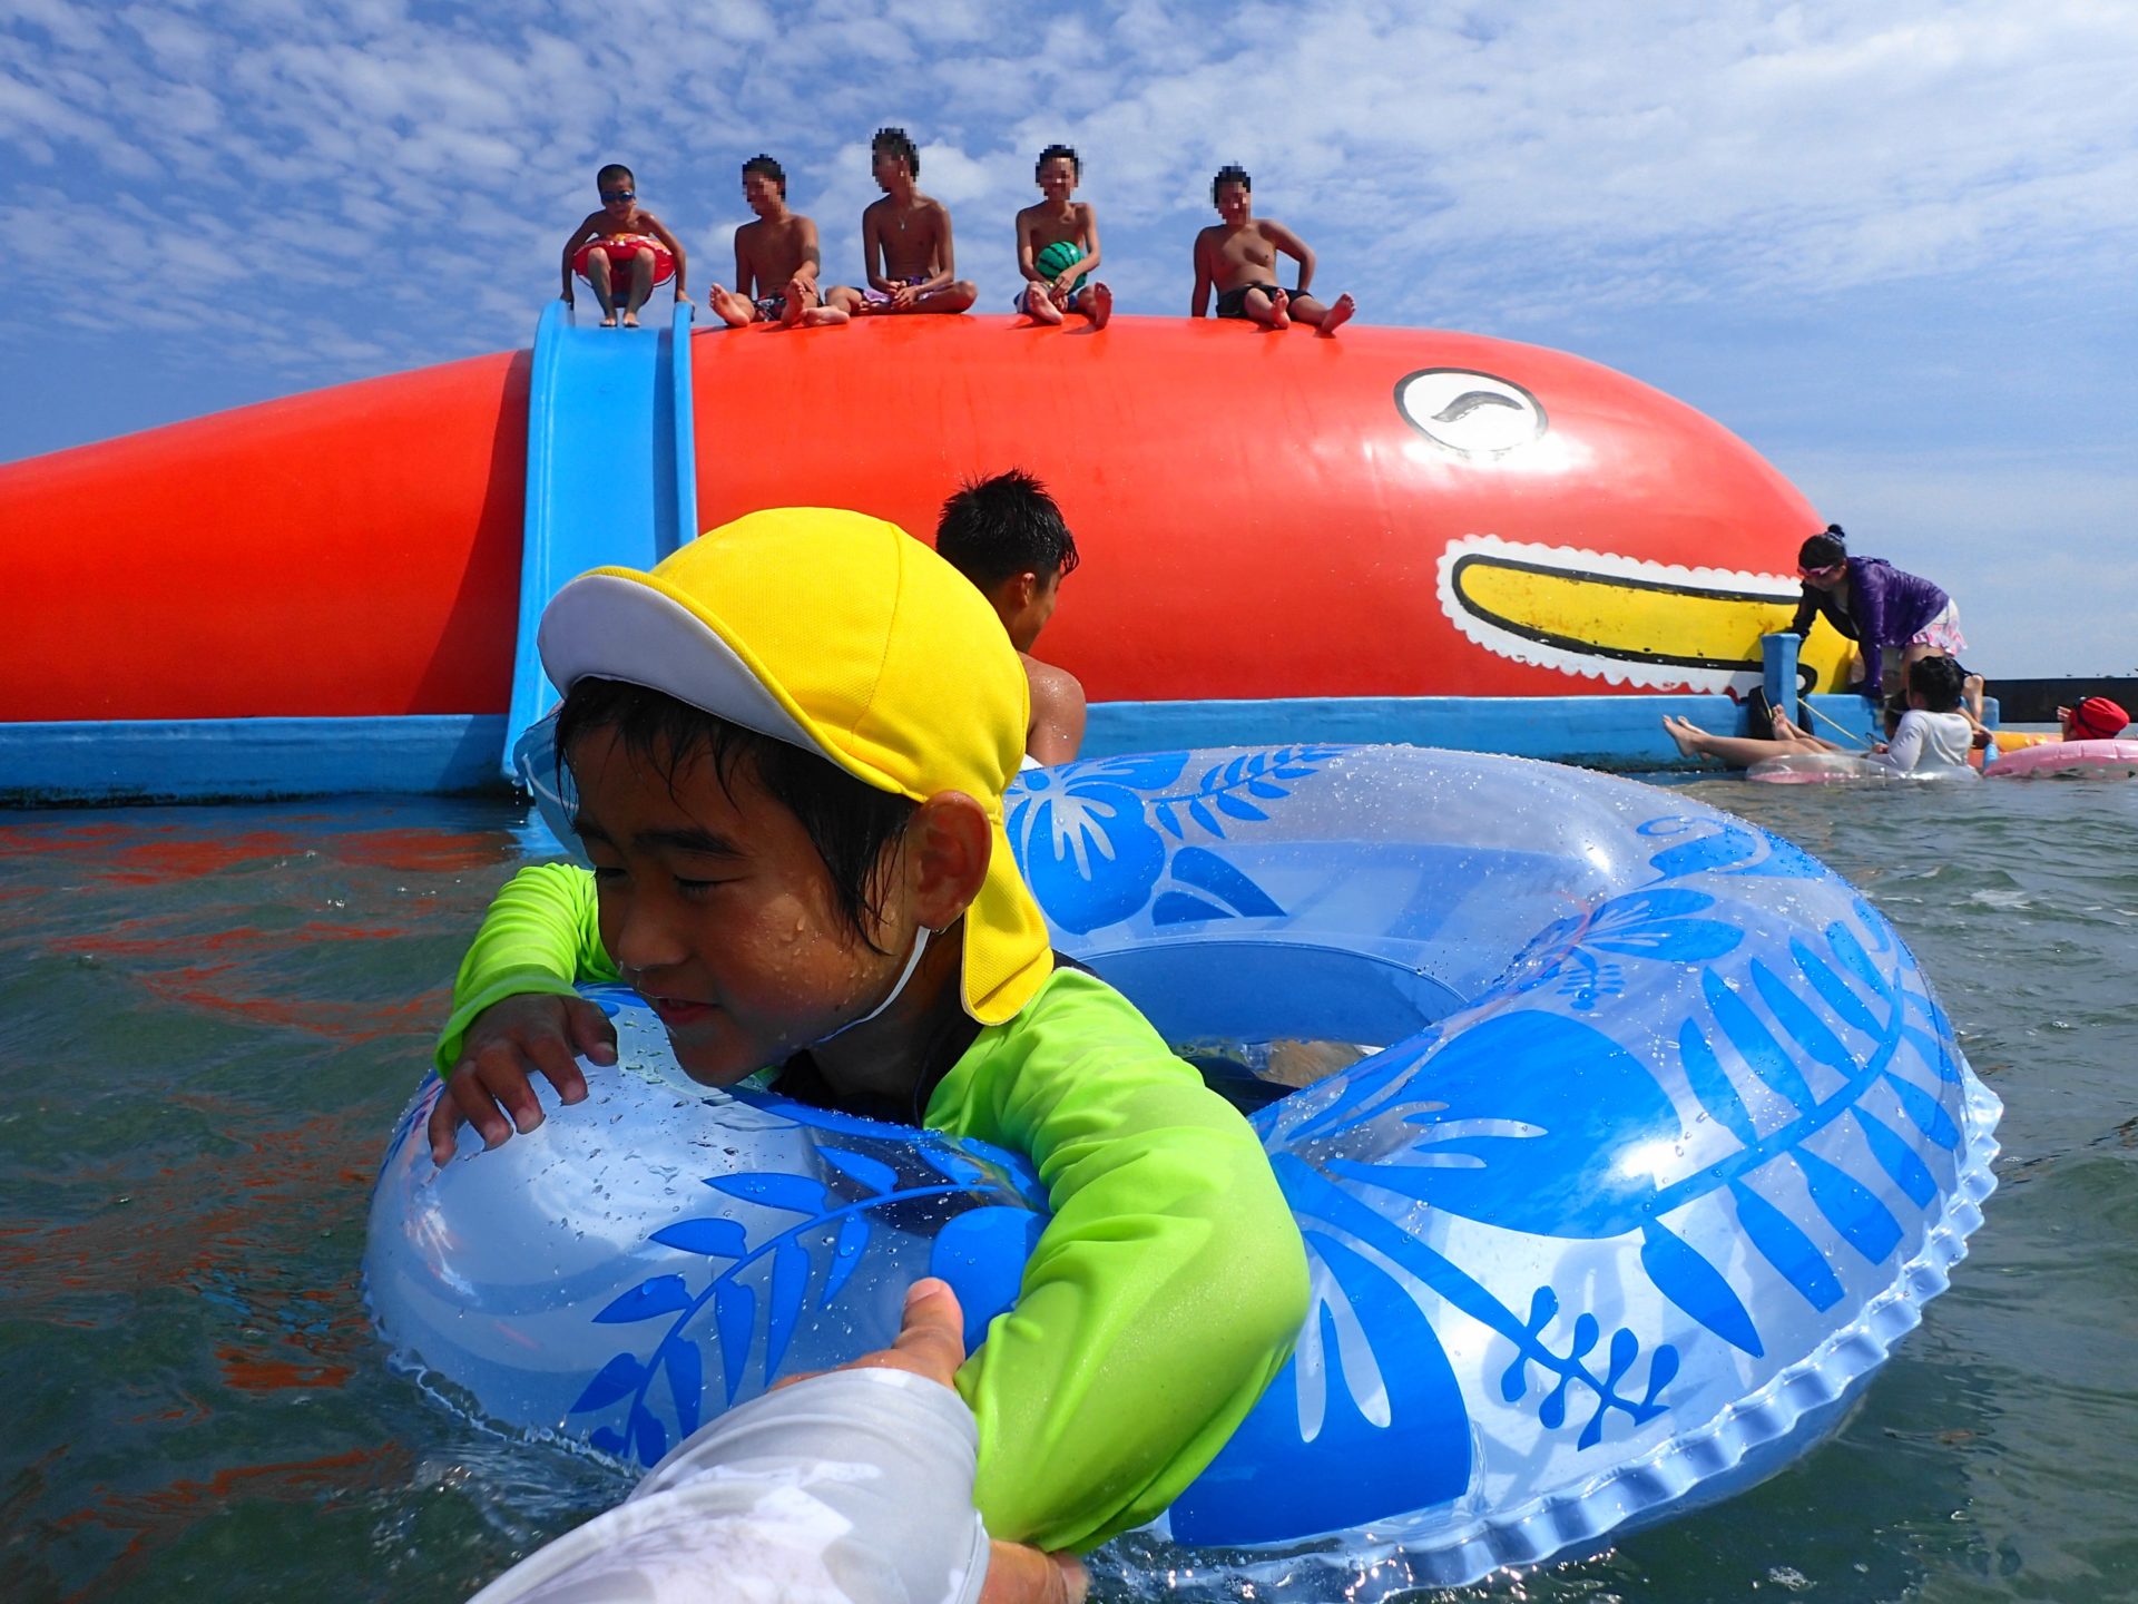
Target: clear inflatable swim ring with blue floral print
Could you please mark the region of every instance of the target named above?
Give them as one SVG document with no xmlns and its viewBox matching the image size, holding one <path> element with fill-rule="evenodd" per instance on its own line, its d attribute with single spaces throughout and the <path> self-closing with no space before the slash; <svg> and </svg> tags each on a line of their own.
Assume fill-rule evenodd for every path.
<svg viewBox="0 0 2138 1604">
<path fill-rule="evenodd" d="M 1817 1441 L 1982 1219 L 2001 1106 L 1914 956 L 1725 813 L 1334 746 L 1071 764 L 1009 802 L 1060 950 L 1167 1039 L 1390 1044 L 1253 1114 L 1311 1311 L 1101 1570 L 1379 1598 L 1601 1546 Z M 708 1095 L 603 1001 L 622 1067 L 575 1108 L 545 1089 L 532 1136 L 440 1172 L 436 1082 L 402 1116 L 366 1255 L 400 1362 L 652 1463 L 887 1341 L 921 1273 L 973 1337 L 1013 1298 L 1041 1223 L 1022 1161 Z"/>
</svg>

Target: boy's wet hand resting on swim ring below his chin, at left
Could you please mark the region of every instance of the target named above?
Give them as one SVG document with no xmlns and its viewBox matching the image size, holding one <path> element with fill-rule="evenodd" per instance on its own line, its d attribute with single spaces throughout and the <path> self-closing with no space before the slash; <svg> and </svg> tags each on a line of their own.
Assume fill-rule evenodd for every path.
<svg viewBox="0 0 2138 1604">
<path fill-rule="evenodd" d="M 616 1031 L 597 1003 L 528 992 L 485 1007 L 468 1024 L 460 1061 L 430 1110 L 430 1161 L 443 1168 L 453 1157 L 453 1129 L 464 1119 L 483 1146 L 498 1146 L 513 1127 L 532 1131 L 541 1125 L 541 1101 L 528 1076 L 547 1076 L 567 1104 L 584 1099 L 582 1057 L 616 1063 Z"/>
</svg>

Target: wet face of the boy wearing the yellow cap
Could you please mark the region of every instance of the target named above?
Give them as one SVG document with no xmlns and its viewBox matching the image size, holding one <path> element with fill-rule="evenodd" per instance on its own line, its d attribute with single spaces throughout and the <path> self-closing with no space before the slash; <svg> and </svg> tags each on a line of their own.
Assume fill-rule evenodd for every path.
<svg viewBox="0 0 2138 1604">
<path fill-rule="evenodd" d="M 708 1086 L 780 1065 L 874 1007 L 911 920 L 872 952 L 840 913 L 823 858 L 748 766 L 729 787 L 706 753 L 663 776 L 616 731 L 569 753 L 594 862 L 601 941 Z M 671 783 L 673 781 L 673 783 Z"/>
</svg>

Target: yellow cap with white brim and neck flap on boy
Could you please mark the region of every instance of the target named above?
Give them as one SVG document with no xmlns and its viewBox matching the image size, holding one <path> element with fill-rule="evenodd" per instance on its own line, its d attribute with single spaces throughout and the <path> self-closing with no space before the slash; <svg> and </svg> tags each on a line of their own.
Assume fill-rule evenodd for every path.
<svg viewBox="0 0 2138 1604">
<path fill-rule="evenodd" d="M 964 1012 L 998 1024 L 1039 990 L 1054 952 L 1003 830 L 1031 687 L 986 597 L 921 541 L 830 507 L 750 513 L 650 573 L 582 573 L 539 642 L 560 691 L 644 684 L 879 791 L 971 796 L 994 851 L 964 915 Z"/>
</svg>

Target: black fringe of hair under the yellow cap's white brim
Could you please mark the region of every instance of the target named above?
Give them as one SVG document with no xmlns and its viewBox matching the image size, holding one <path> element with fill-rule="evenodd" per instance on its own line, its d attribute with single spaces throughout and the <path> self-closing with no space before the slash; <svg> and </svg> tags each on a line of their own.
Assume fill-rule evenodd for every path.
<svg viewBox="0 0 2138 1604">
<path fill-rule="evenodd" d="M 579 680 L 556 716 L 556 753 L 562 766 L 571 746 L 594 729 L 614 729 L 624 751 L 676 793 L 686 761 L 706 753 L 714 778 L 729 796 L 735 776 L 748 774 L 765 796 L 802 826 L 825 873 L 832 900 L 853 932 L 883 952 L 868 926 L 883 913 L 883 877 L 889 851 L 919 806 L 894 791 L 879 791 L 821 753 L 744 729 L 688 701 L 622 680 Z"/>
</svg>

